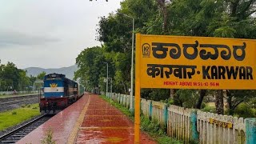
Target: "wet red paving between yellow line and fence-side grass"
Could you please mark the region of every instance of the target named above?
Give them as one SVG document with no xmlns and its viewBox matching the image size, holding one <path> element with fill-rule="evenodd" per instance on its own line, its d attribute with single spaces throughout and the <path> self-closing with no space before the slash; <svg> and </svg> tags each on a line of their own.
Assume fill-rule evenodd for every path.
<svg viewBox="0 0 256 144">
<path fill-rule="evenodd" d="M 98 95 L 91 95 L 75 143 L 134 143 L 134 122 Z M 141 132 L 140 143 L 156 142 Z"/>
</svg>

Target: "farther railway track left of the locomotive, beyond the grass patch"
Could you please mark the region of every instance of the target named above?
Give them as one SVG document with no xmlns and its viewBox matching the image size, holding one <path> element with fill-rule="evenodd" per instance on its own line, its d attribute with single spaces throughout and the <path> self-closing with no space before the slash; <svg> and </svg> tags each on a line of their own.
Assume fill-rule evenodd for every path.
<svg viewBox="0 0 256 144">
<path fill-rule="evenodd" d="M 24 104 L 33 104 L 38 102 L 38 94 L 11 97 L 11 98 L 0 98 L 0 112 L 6 110 L 12 110 L 18 108 Z"/>
</svg>

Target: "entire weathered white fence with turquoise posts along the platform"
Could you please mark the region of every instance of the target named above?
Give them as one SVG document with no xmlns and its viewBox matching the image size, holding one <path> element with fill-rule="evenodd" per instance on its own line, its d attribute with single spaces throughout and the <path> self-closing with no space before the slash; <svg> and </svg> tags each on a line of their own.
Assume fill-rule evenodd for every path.
<svg viewBox="0 0 256 144">
<path fill-rule="evenodd" d="M 129 108 L 129 95 L 110 95 L 115 102 Z M 256 144 L 256 118 L 236 118 L 173 105 L 166 107 L 166 103 L 144 98 L 141 98 L 141 110 L 147 118 L 166 125 L 168 136 L 184 143 L 195 140 L 202 144 Z"/>
</svg>

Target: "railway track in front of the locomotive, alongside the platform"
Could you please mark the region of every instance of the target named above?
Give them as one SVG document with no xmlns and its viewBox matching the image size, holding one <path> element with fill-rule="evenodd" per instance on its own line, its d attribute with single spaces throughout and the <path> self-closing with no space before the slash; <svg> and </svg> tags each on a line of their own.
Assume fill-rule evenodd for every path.
<svg viewBox="0 0 256 144">
<path fill-rule="evenodd" d="M 53 115 L 43 114 L 40 117 L 38 117 L 30 122 L 27 122 L 25 125 L 20 126 L 17 129 L 12 130 L 7 134 L 2 135 L 0 137 L 0 144 L 18 142 L 18 140 L 25 137 L 26 134 L 29 134 L 31 131 L 36 129 L 38 126 L 42 125 L 42 123 L 46 122 L 51 117 L 53 117 Z"/>
</svg>

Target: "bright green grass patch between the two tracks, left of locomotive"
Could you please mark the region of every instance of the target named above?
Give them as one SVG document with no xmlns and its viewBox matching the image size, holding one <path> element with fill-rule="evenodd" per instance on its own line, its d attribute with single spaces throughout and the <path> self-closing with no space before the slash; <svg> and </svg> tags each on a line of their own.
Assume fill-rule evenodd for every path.
<svg viewBox="0 0 256 144">
<path fill-rule="evenodd" d="M 40 114 L 39 105 L 33 104 L 0 113 L 0 131 L 18 125 Z"/>
</svg>

